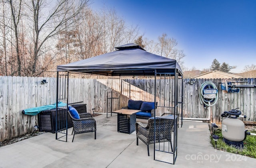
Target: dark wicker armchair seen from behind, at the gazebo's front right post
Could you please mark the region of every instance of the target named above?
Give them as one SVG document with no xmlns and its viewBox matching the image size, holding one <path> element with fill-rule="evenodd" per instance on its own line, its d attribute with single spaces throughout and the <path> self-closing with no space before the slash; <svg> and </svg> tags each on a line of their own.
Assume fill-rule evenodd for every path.
<svg viewBox="0 0 256 168">
<path fill-rule="evenodd" d="M 174 124 L 173 119 L 156 119 L 156 143 L 170 142 L 172 148 L 172 127 Z M 154 143 L 154 119 L 148 119 L 148 125 L 144 125 L 141 122 L 136 122 L 136 145 L 138 145 L 138 139 L 148 146 Z"/>
</svg>

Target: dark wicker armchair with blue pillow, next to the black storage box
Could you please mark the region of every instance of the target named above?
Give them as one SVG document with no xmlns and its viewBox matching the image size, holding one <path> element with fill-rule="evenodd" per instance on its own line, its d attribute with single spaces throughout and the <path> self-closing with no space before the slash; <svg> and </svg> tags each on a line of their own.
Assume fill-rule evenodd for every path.
<svg viewBox="0 0 256 168">
<path fill-rule="evenodd" d="M 94 132 L 94 139 L 96 139 L 96 120 L 92 118 L 92 115 L 90 113 L 80 113 L 80 119 L 75 119 L 74 117 L 72 117 L 69 110 L 68 114 L 73 123 L 72 134 L 74 133 L 74 136 L 72 142 L 74 141 L 75 134 L 80 133 Z"/>
</svg>

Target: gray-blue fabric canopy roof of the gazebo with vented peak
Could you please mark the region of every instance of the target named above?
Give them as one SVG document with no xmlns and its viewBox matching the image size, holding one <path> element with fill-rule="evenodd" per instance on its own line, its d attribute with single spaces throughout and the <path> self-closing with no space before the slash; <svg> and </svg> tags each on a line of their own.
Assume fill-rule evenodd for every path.
<svg viewBox="0 0 256 168">
<path fill-rule="evenodd" d="M 173 73 L 182 70 L 174 59 L 168 59 L 145 51 L 134 43 L 115 47 L 117 50 L 57 66 L 57 71 L 84 72 L 106 76 L 154 76 L 158 73 Z"/>
</svg>

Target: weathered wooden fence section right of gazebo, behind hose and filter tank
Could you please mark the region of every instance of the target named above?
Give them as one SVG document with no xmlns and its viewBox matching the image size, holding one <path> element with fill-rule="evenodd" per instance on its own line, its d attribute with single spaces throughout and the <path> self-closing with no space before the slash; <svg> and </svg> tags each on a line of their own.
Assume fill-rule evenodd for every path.
<svg viewBox="0 0 256 168">
<path fill-rule="evenodd" d="M 200 104 L 198 90 L 203 82 L 211 81 L 218 88 L 218 101 L 211 106 L 210 121 L 220 124 L 221 114 L 224 111 L 239 108 L 243 115 L 246 115 L 244 121 L 256 121 L 256 87 L 238 87 L 239 92 L 227 92 L 221 89 L 221 83 L 226 81 L 236 85 L 255 85 L 256 78 L 239 78 L 239 79 L 193 79 L 194 84 L 190 84 L 190 79 L 184 79 L 184 99 L 183 99 L 183 116 L 193 118 L 207 118 L 208 114 L 204 106 Z M 248 81 L 248 82 L 241 82 Z"/>
</svg>

